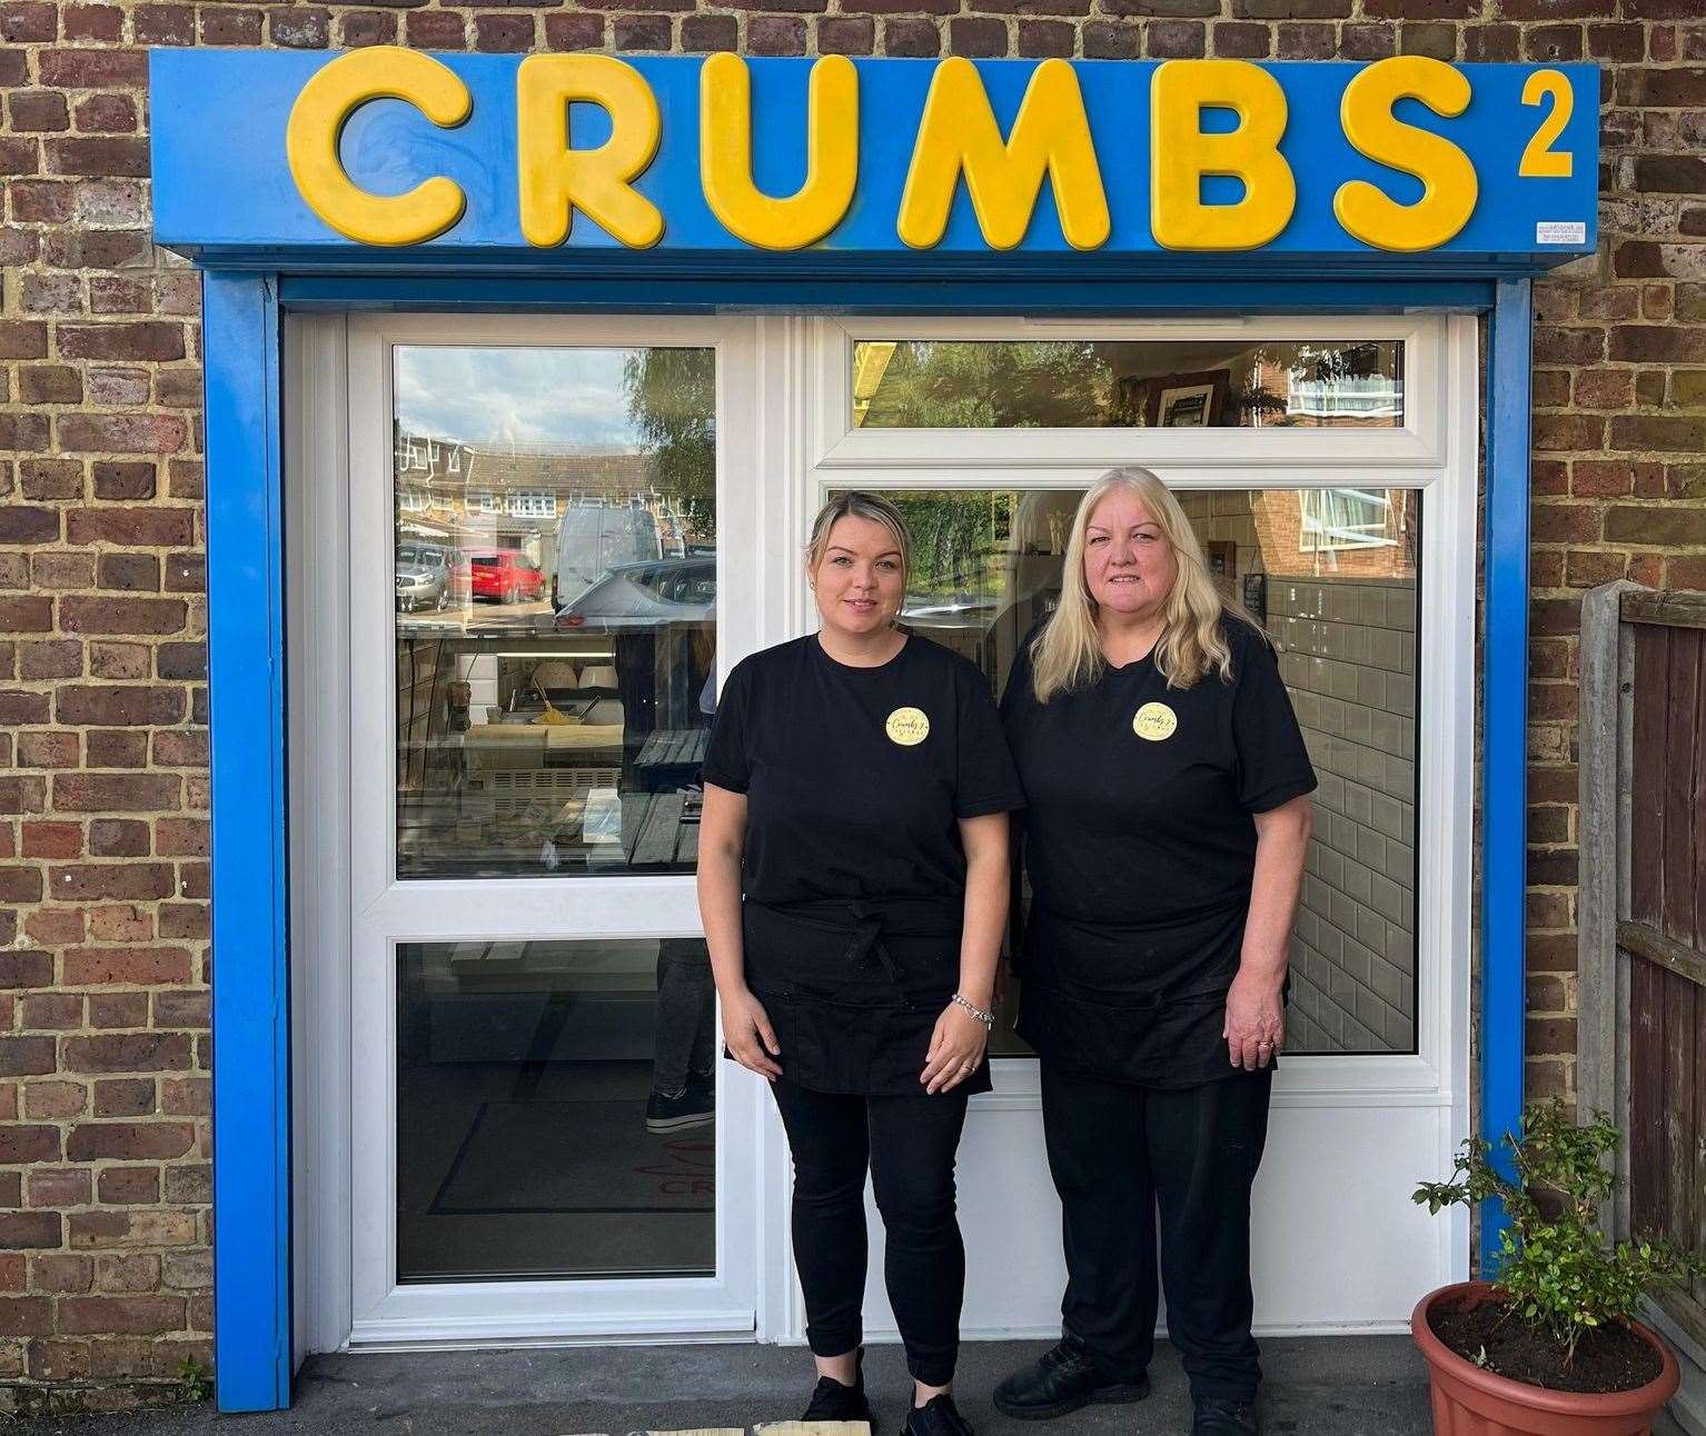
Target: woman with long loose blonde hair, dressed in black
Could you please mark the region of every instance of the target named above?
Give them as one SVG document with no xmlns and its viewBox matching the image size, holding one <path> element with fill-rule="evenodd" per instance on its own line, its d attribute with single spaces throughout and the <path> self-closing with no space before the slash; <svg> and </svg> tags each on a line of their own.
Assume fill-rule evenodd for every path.
<svg viewBox="0 0 1706 1436">
<path fill-rule="evenodd" d="M 1146 469 L 1085 495 L 1061 602 L 1001 703 L 1036 895 L 1018 1030 L 1037 1049 L 1068 1284 L 1015 1417 L 1138 1400 L 1157 1313 L 1194 1436 L 1249 1436 L 1249 1201 L 1285 1045 L 1315 774 L 1273 648 Z"/>
</svg>

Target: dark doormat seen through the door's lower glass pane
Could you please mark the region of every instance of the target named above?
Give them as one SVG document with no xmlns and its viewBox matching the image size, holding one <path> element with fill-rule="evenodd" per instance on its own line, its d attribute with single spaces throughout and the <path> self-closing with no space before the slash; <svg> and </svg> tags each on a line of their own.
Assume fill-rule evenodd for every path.
<svg viewBox="0 0 1706 1436">
<path fill-rule="evenodd" d="M 645 1129 L 645 1102 L 486 1102 L 428 1211 L 711 1211 L 711 1127 Z"/>
</svg>

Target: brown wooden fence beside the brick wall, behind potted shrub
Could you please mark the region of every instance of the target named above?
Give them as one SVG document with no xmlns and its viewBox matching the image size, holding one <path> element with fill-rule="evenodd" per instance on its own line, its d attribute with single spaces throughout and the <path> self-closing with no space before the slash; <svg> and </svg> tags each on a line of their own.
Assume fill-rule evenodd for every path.
<svg viewBox="0 0 1706 1436">
<path fill-rule="evenodd" d="M 1624 1131 L 1609 1218 L 1706 1254 L 1706 594 L 1588 595 L 1580 757 L 1576 1086 Z M 1658 1306 L 1706 1429 L 1706 1283 Z"/>
</svg>

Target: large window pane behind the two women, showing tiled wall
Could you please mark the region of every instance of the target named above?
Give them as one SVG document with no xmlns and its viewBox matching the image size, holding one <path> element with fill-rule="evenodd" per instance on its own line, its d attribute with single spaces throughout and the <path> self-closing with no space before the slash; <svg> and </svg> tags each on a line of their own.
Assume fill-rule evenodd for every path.
<svg viewBox="0 0 1706 1436">
<path fill-rule="evenodd" d="M 902 624 L 995 691 L 1059 595 L 1080 493 L 891 493 L 913 532 Z M 1218 582 L 1280 645 L 1320 778 L 1291 941 L 1293 1052 L 1416 1051 L 1414 489 L 1181 491 Z M 1029 900 L 1029 895 L 1022 899 Z M 1013 1037 L 1007 984 L 993 1051 Z"/>
</svg>

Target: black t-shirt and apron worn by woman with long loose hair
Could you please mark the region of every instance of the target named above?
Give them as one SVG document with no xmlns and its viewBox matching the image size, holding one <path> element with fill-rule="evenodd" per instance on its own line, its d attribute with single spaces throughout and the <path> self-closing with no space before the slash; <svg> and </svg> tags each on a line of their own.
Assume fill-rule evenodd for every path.
<svg viewBox="0 0 1706 1436">
<path fill-rule="evenodd" d="M 1252 814 L 1315 788 L 1268 641 L 1227 619 L 1232 677 L 1153 655 L 1039 704 L 1020 648 L 1001 716 L 1025 788 L 1032 914 L 1020 1032 L 1082 1069 L 1184 1086 L 1230 1071 L 1220 1016 L 1256 873 Z"/>
</svg>

